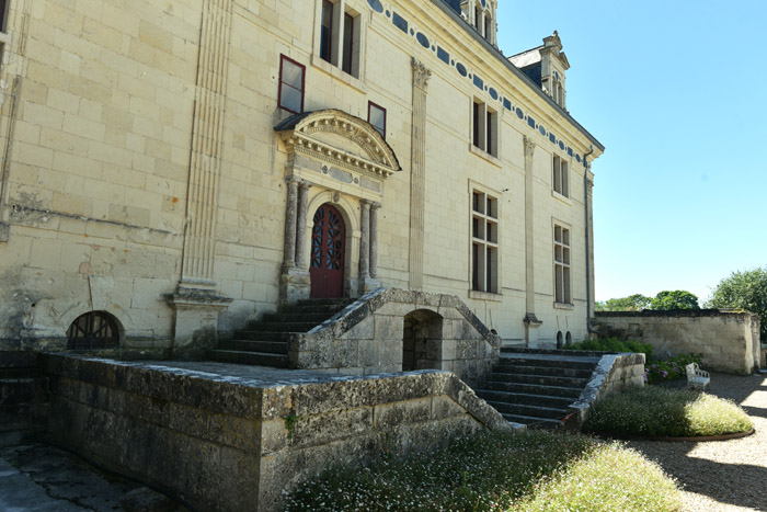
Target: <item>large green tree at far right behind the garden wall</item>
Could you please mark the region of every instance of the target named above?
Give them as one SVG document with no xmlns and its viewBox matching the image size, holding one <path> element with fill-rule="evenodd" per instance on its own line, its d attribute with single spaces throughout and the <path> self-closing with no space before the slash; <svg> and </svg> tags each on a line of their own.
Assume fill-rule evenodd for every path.
<svg viewBox="0 0 767 512">
<path fill-rule="evenodd" d="M 706 307 L 757 314 L 762 318 L 762 341 L 767 341 L 767 268 L 733 272 L 717 285 Z"/>
</svg>

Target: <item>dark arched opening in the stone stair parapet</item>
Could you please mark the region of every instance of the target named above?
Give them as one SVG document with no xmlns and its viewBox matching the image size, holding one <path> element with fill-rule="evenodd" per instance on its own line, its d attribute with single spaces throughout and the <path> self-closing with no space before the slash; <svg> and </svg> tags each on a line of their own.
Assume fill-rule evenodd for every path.
<svg viewBox="0 0 767 512">
<path fill-rule="evenodd" d="M 443 317 L 416 309 L 404 317 L 402 371 L 442 367 Z"/>
</svg>

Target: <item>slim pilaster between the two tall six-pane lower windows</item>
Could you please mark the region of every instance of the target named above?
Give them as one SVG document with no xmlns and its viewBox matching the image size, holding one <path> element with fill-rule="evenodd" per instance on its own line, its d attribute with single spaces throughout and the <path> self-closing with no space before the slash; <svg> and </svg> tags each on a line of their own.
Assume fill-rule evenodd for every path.
<svg viewBox="0 0 767 512">
<path fill-rule="evenodd" d="M 536 282 L 535 282 L 535 229 L 534 229 L 534 186 L 533 159 L 535 143 L 525 137 L 525 343 L 538 340 L 537 331 L 542 322 L 536 317 Z"/>
</svg>

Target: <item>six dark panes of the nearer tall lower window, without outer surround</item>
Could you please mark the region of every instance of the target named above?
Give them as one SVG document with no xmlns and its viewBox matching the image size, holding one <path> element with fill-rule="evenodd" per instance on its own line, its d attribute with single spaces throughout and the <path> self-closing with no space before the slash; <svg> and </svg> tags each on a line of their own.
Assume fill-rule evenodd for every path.
<svg viewBox="0 0 767 512">
<path fill-rule="evenodd" d="M 471 289 L 499 293 L 499 202 L 471 193 Z"/>
</svg>

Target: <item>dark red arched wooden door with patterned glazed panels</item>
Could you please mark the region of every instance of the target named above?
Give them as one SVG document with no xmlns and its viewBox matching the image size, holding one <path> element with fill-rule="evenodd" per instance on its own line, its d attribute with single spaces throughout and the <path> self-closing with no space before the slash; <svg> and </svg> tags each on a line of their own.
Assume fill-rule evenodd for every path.
<svg viewBox="0 0 767 512">
<path fill-rule="evenodd" d="M 314 214 L 311 230 L 311 298 L 344 295 L 344 252 L 346 227 L 341 214 L 325 203 Z"/>
</svg>

